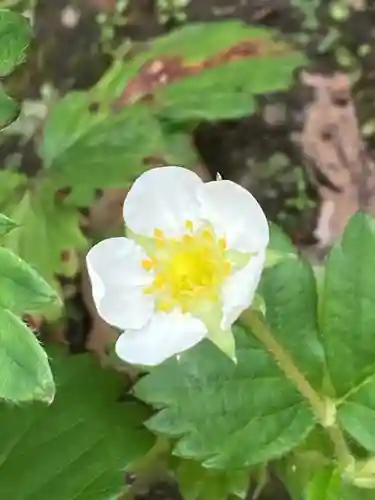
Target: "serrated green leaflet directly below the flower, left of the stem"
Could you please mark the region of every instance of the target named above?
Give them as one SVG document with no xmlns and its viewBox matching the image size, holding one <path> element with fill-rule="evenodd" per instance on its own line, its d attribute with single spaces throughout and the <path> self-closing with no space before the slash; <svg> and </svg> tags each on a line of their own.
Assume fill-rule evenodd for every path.
<svg viewBox="0 0 375 500">
<path fill-rule="evenodd" d="M 314 426 L 302 396 L 263 346 L 238 330 L 237 365 L 204 341 L 136 386 L 138 397 L 160 409 L 148 427 L 179 439 L 175 454 L 207 467 L 267 462 Z"/>
</svg>

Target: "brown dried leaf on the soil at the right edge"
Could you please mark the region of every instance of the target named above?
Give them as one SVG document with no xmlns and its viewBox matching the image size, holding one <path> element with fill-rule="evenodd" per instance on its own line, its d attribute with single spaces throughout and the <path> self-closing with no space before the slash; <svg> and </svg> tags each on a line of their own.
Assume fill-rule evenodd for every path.
<svg viewBox="0 0 375 500">
<path fill-rule="evenodd" d="M 325 247 L 341 236 L 356 211 L 375 214 L 375 164 L 360 135 L 349 78 L 304 72 L 302 81 L 314 89 L 300 140 L 318 185 L 315 235 Z"/>
</svg>

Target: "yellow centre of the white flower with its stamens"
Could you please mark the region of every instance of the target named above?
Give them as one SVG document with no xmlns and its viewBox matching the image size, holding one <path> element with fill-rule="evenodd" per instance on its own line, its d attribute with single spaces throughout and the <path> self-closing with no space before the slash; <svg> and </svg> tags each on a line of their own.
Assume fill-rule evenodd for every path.
<svg viewBox="0 0 375 500">
<path fill-rule="evenodd" d="M 145 293 L 155 295 L 158 310 L 190 311 L 202 300 L 219 300 L 221 285 L 231 272 L 225 238 L 218 239 L 209 225 L 194 231 L 192 222 L 186 221 L 185 227 L 180 239 L 165 238 L 156 229 L 155 249 L 142 262 L 155 273 Z"/>
</svg>

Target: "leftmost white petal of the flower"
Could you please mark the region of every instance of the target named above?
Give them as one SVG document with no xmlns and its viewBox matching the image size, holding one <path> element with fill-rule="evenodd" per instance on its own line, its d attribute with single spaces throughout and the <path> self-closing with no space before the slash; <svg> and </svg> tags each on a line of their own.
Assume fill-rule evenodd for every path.
<svg viewBox="0 0 375 500">
<path fill-rule="evenodd" d="M 109 238 L 86 257 L 92 295 L 99 315 L 121 329 L 142 328 L 154 309 L 154 298 L 143 292 L 153 275 L 141 266 L 147 255 L 134 241 Z"/>
</svg>

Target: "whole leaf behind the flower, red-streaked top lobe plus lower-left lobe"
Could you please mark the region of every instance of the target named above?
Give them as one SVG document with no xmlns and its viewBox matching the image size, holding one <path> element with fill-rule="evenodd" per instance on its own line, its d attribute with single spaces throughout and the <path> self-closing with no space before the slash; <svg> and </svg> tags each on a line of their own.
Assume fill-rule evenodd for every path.
<svg viewBox="0 0 375 500">
<path fill-rule="evenodd" d="M 302 61 L 270 31 L 237 21 L 185 26 L 132 52 L 89 92 L 66 96 L 44 125 L 44 167 L 56 189 L 72 188 L 74 205 L 156 165 L 195 167 L 197 121 L 252 113 L 255 96 L 287 87 Z"/>
</svg>

